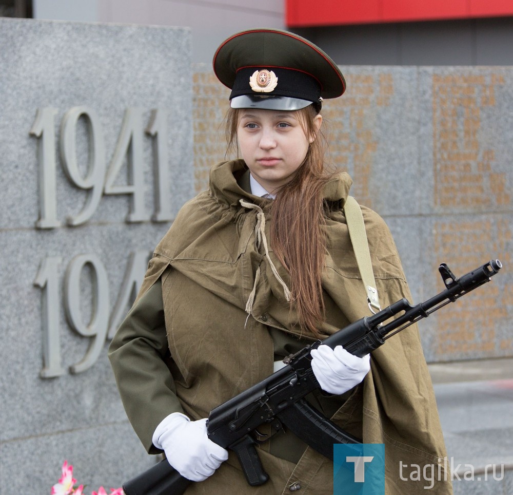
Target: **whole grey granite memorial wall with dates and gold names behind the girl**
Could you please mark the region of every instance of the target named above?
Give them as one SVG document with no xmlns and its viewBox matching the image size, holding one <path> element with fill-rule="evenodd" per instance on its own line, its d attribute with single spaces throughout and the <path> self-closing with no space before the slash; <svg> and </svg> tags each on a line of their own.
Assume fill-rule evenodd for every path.
<svg viewBox="0 0 513 495">
<path fill-rule="evenodd" d="M 0 19 L 0 495 L 151 465 L 107 347 L 151 251 L 224 159 L 228 94 L 182 28 Z M 421 325 L 428 361 L 513 355 L 513 68 L 343 67 L 329 158 L 398 244 L 414 302 L 491 258 Z M 27 487 L 30 487 L 27 491 Z"/>
</svg>

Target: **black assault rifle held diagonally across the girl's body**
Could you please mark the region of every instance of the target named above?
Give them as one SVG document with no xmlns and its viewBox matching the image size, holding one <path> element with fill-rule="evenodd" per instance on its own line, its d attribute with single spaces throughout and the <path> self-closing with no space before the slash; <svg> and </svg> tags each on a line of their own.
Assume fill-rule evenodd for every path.
<svg viewBox="0 0 513 495">
<path fill-rule="evenodd" d="M 351 323 L 323 340 L 322 344 L 331 348 L 342 345 L 350 353 L 362 357 L 383 345 L 392 335 L 488 282 L 501 268 L 499 260 L 491 260 L 457 278 L 443 263 L 439 267 L 445 284 L 443 292 L 417 306 L 411 306 L 403 298 L 372 316 Z M 404 313 L 399 315 L 401 312 Z M 394 316 L 397 317 L 384 324 Z M 282 369 L 210 412 L 207 422 L 209 439 L 235 451 L 246 480 L 252 486 L 262 485 L 268 480 L 255 449 L 258 441 L 252 436 L 263 424 L 270 423 L 276 430 L 285 425 L 331 460 L 334 443 L 362 443 L 305 400 L 306 395 L 320 388 L 311 368 L 310 357 L 310 351 L 320 344 L 321 341 L 317 340 L 288 356 Z M 189 483 L 191 481 L 183 478 L 164 459 L 125 483 L 123 489 L 126 495 L 180 495 Z"/>
</svg>

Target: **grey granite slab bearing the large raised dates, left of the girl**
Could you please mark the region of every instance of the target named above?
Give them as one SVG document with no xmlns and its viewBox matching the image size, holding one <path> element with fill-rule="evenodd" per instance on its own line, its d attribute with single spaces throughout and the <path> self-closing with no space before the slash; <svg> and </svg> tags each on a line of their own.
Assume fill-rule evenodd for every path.
<svg viewBox="0 0 513 495">
<path fill-rule="evenodd" d="M 155 459 L 107 359 L 193 191 L 190 32 L 0 19 L 0 493 Z"/>
</svg>

